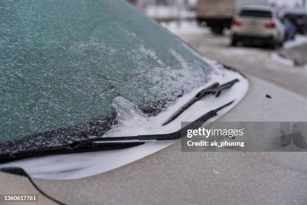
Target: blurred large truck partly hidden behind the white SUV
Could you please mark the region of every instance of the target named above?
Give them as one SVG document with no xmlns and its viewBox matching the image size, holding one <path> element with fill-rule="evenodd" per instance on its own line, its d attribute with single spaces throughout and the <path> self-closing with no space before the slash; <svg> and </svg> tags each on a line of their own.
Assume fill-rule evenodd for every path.
<svg viewBox="0 0 307 205">
<path fill-rule="evenodd" d="M 267 0 L 199 0 L 197 21 L 205 23 L 216 34 L 230 28 L 235 12 L 244 5 L 268 5 Z"/>
</svg>

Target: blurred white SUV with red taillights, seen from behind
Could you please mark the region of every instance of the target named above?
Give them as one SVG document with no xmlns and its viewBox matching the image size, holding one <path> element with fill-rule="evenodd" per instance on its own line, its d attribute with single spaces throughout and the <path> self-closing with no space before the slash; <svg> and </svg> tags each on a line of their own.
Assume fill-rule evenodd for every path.
<svg viewBox="0 0 307 205">
<path fill-rule="evenodd" d="M 242 7 L 232 22 L 231 45 L 238 42 L 277 47 L 284 41 L 284 26 L 276 10 L 267 6 Z"/>
</svg>

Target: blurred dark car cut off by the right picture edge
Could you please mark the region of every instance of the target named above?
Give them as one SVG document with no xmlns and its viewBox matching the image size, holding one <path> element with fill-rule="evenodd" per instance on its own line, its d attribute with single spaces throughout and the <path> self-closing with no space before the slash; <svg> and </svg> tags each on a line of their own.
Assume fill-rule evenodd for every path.
<svg viewBox="0 0 307 205">
<path fill-rule="evenodd" d="M 297 33 L 306 34 L 307 33 L 307 11 L 296 9 L 288 10 L 284 14 L 284 19 L 288 19 L 295 25 Z"/>
</svg>

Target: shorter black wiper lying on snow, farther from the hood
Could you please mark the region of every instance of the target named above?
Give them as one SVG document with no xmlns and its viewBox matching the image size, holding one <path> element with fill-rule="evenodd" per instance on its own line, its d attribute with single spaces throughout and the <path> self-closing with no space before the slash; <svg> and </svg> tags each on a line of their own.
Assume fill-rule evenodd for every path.
<svg viewBox="0 0 307 205">
<path fill-rule="evenodd" d="M 175 120 L 176 118 L 178 118 L 178 116 L 180 116 L 185 110 L 190 108 L 196 101 L 200 100 L 204 96 L 209 95 L 209 94 L 214 94 L 216 97 L 218 97 L 221 94 L 222 90 L 229 89 L 230 87 L 232 87 L 237 82 L 239 82 L 238 79 L 234 79 L 234 80 L 227 82 L 225 84 L 222 84 L 222 85 L 220 85 L 218 82 L 213 83 L 209 87 L 207 87 L 207 88 L 201 90 L 200 92 L 198 92 L 192 99 L 190 99 L 184 106 L 182 106 L 180 109 L 178 109 L 162 125 L 165 126 L 165 125 L 169 124 L 170 122 L 172 122 L 173 120 Z"/>
</svg>

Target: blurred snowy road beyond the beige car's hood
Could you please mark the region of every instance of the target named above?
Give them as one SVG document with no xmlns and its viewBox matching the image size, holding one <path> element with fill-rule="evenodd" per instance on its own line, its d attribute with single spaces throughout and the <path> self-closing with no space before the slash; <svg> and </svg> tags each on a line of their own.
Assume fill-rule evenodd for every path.
<svg viewBox="0 0 307 205">
<path fill-rule="evenodd" d="M 280 57 L 275 50 L 230 47 L 228 35 L 215 36 L 206 31 L 180 33 L 179 37 L 208 58 L 307 96 L 307 67 L 294 66 L 291 60 Z M 306 37 L 298 36 L 298 38 Z M 297 42 L 292 44 L 295 43 Z M 295 52 L 295 47 L 291 50 Z M 301 48 L 297 49 L 297 52 L 301 53 Z"/>
</svg>

